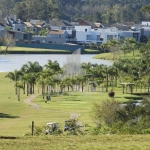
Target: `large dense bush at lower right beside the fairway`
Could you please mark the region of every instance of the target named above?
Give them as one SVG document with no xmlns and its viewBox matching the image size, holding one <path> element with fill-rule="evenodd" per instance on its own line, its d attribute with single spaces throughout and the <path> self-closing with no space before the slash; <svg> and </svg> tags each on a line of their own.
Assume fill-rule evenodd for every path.
<svg viewBox="0 0 150 150">
<path fill-rule="evenodd" d="M 150 101 L 143 100 L 121 107 L 114 100 L 93 104 L 92 119 L 97 124 L 94 134 L 146 134 L 150 132 Z M 105 128 L 104 128 L 105 127 Z"/>
</svg>

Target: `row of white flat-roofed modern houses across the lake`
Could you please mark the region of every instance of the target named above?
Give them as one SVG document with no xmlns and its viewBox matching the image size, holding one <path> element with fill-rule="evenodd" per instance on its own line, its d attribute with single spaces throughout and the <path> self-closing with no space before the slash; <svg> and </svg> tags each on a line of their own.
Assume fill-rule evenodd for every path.
<svg viewBox="0 0 150 150">
<path fill-rule="evenodd" d="M 78 43 L 95 43 L 102 44 L 108 40 L 122 39 L 133 37 L 140 42 L 141 31 L 122 31 L 116 27 L 91 29 L 91 26 L 75 26 L 76 39 Z"/>
</svg>

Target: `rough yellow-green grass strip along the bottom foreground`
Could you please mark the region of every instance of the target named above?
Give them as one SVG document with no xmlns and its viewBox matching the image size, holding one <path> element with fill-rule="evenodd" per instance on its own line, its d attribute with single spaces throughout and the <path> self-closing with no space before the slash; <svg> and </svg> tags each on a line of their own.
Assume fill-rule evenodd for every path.
<svg viewBox="0 0 150 150">
<path fill-rule="evenodd" d="M 149 135 L 46 136 L 0 140 L 1 150 L 149 150 Z"/>
</svg>

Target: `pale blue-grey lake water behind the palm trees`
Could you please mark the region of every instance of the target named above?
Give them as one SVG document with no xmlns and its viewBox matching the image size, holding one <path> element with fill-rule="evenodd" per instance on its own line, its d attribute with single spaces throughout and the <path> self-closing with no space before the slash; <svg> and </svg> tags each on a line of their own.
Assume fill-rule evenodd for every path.
<svg viewBox="0 0 150 150">
<path fill-rule="evenodd" d="M 0 55 L 0 72 L 19 70 L 23 64 L 28 61 L 35 62 L 38 61 L 40 65 L 44 66 L 47 64 L 48 60 L 58 61 L 60 66 L 66 62 L 67 56 L 69 55 L 57 55 L 57 54 L 11 54 L 11 55 Z M 91 62 L 93 64 L 105 64 L 112 65 L 109 60 L 93 59 L 94 55 L 81 55 L 81 62 Z"/>
</svg>

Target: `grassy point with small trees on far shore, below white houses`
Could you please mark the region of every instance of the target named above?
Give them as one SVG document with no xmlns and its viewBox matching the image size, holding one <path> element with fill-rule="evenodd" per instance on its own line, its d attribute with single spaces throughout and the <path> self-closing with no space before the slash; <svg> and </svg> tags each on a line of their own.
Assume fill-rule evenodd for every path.
<svg viewBox="0 0 150 150">
<path fill-rule="evenodd" d="M 147 39 L 147 43 L 150 40 Z M 147 47 L 145 43 L 139 43 L 134 38 L 125 38 L 125 40 L 108 40 L 100 45 L 101 54 L 95 56 L 96 59 L 140 59 L 143 50 Z"/>
</svg>

